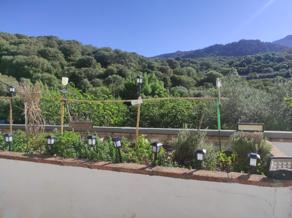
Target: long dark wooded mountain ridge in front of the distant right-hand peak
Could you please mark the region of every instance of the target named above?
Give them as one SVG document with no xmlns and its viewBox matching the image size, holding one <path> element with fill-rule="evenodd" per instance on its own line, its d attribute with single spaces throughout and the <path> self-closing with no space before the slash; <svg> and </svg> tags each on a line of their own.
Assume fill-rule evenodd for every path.
<svg viewBox="0 0 292 218">
<path fill-rule="evenodd" d="M 238 42 L 228 43 L 226 45 L 215 44 L 209 47 L 192 50 L 192 51 L 177 51 L 174 53 L 161 54 L 151 58 L 197 58 L 210 56 L 245 56 L 264 52 L 280 52 L 288 47 L 270 42 L 261 42 L 260 40 L 241 39 Z"/>
</svg>

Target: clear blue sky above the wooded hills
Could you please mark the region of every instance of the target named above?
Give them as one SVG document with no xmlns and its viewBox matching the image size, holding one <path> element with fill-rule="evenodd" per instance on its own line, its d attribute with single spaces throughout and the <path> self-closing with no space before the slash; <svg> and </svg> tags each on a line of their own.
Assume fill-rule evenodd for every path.
<svg viewBox="0 0 292 218">
<path fill-rule="evenodd" d="M 0 0 L 0 31 L 58 36 L 146 57 L 292 34 L 292 0 Z"/>
</svg>

